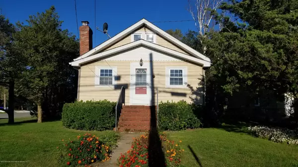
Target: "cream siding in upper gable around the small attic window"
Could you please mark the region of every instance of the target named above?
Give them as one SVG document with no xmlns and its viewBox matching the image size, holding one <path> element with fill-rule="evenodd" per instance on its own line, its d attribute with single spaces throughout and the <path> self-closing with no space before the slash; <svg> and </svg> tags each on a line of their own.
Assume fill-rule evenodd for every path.
<svg viewBox="0 0 298 167">
<path fill-rule="evenodd" d="M 138 33 L 138 32 L 152 32 L 152 31 L 148 28 L 142 27 L 142 28 L 134 31 L 133 33 Z M 128 35 L 128 36 L 124 37 L 122 40 L 120 40 L 120 41 L 116 42 L 115 44 L 113 44 L 112 46 L 104 49 L 103 51 L 108 51 L 108 50 L 111 50 L 113 48 L 117 48 L 117 47 L 129 44 L 129 43 L 132 42 L 131 38 L 132 38 L 131 35 Z M 163 46 L 165 48 L 168 48 L 168 49 L 171 49 L 171 50 L 174 50 L 174 51 L 189 55 L 188 53 L 184 52 L 182 49 L 180 49 L 176 45 L 170 43 L 168 40 L 166 40 L 165 38 L 161 37 L 158 34 L 156 35 L 156 44 L 160 45 L 160 46 Z"/>
</svg>

